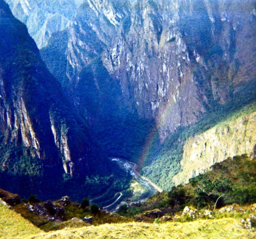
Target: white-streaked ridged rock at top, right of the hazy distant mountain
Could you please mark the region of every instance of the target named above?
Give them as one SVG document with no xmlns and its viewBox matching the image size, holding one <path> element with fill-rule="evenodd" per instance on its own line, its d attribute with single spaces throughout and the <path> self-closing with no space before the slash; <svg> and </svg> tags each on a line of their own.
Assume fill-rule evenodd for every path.
<svg viewBox="0 0 256 239">
<path fill-rule="evenodd" d="M 129 11 L 130 5 L 126 1 L 86 0 L 81 4 L 68 26 L 69 78 L 101 56 Z"/>
</svg>

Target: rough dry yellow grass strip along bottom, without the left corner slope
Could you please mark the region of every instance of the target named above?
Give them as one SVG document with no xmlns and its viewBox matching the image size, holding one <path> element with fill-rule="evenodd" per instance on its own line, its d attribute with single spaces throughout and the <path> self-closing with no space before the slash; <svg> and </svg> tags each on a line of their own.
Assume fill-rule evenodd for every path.
<svg viewBox="0 0 256 239">
<path fill-rule="evenodd" d="M 64 229 L 29 237 L 30 239 L 256 239 L 256 233 L 241 227 L 232 218 L 199 220 L 189 223 L 168 222 L 105 224 L 95 227 Z"/>
</svg>

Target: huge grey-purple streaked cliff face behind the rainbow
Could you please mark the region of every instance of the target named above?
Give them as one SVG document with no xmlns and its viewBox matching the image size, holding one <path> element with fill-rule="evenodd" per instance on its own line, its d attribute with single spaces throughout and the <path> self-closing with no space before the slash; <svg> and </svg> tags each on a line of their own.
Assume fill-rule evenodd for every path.
<svg viewBox="0 0 256 239">
<path fill-rule="evenodd" d="M 102 60 L 163 140 L 255 84 L 255 21 L 251 1 L 138 1 Z"/>
</svg>

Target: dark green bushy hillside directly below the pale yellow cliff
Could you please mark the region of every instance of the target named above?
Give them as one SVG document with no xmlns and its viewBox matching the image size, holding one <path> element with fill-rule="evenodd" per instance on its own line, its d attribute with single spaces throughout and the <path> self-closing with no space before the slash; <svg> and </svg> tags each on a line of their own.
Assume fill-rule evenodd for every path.
<svg viewBox="0 0 256 239">
<path fill-rule="evenodd" d="M 185 206 L 197 209 L 223 207 L 229 204 L 250 205 L 256 200 L 256 159 L 235 156 L 212 166 L 212 170 L 193 177 L 187 185 L 172 187 L 168 193 L 153 195 L 145 203 L 134 205 L 127 215 L 155 208 L 178 212 Z"/>
</svg>

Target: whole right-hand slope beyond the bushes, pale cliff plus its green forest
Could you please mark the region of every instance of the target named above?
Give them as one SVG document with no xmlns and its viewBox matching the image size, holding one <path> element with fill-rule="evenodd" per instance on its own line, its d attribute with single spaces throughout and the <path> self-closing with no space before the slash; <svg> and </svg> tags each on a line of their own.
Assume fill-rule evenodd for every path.
<svg viewBox="0 0 256 239">
<path fill-rule="evenodd" d="M 162 143 L 161 149 L 153 139 L 144 159 L 148 165 L 142 174 L 168 191 L 174 186 L 173 181 L 175 185 L 188 183 L 192 176 L 229 157 L 247 154 L 252 159 L 255 129 L 256 103 L 213 112 L 194 126 L 172 135 Z"/>
</svg>

